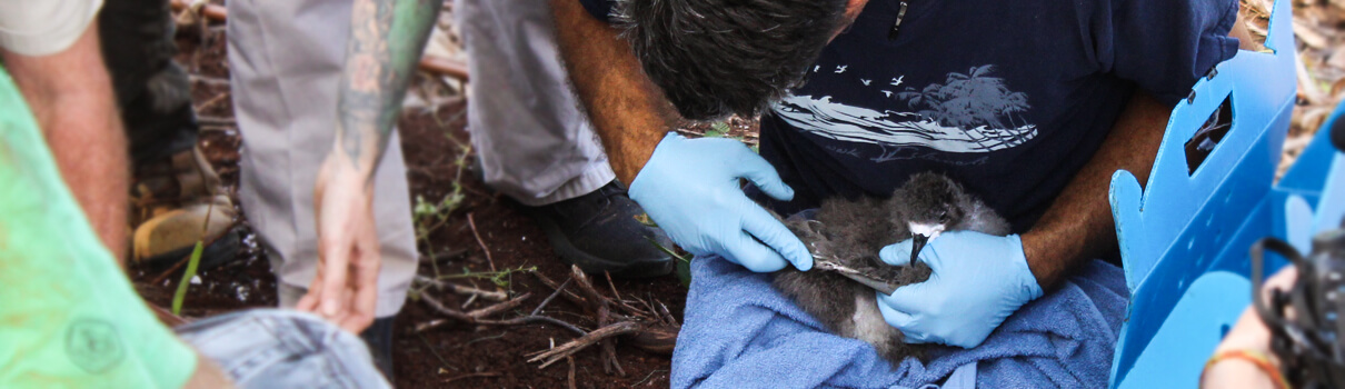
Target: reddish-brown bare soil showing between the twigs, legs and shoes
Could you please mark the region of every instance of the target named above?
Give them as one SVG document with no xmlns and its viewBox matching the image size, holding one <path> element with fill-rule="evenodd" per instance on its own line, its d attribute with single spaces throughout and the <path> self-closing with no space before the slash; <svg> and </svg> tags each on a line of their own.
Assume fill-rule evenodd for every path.
<svg viewBox="0 0 1345 389">
<path fill-rule="evenodd" d="M 199 44 L 200 32 L 180 31 L 179 47 L 183 52 L 179 62 L 192 73 L 192 96 L 198 108 L 203 106 L 202 145 L 230 187 L 238 183 L 238 145 L 235 125 L 231 125 L 231 104 L 229 97 L 219 98 L 229 90 L 229 69 L 225 61 L 223 30 L 208 30 L 206 44 Z M 198 52 L 198 46 L 204 47 Z M 414 201 L 422 197 L 437 202 L 453 190 L 457 182 L 464 187 L 465 199 L 449 214 L 448 222 L 429 234 L 433 248 L 421 244 L 421 252 L 440 254 L 440 275 L 461 275 L 464 271 L 488 272 L 491 269 L 486 249 L 496 269 L 519 269 L 535 267 L 538 272 L 553 280 L 565 280 L 569 268 L 551 252 L 546 236 L 529 219 L 525 210 L 500 198 L 463 170 L 459 176 L 456 162 L 467 144 L 464 131 L 467 102 L 449 104 L 436 112 L 406 112 L 399 122 L 402 147 L 406 155 L 409 179 Z M 468 159 L 469 160 L 469 159 Z M 242 210 L 246 211 L 246 210 Z M 468 223 L 468 215 L 476 222 L 476 232 L 483 245 L 479 245 Z M 246 219 L 241 223 L 246 227 Z M 276 279 L 270 273 L 265 256 L 256 249 L 256 237 L 245 238 L 245 249 L 239 260 L 202 275 L 202 284 L 190 289 L 183 316 L 203 318 L 221 312 L 250 307 L 276 306 Z M 443 253 L 457 253 L 444 256 Z M 151 284 L 164 273 L 167 265 L 132 267 L 130 273 L 140 293 L 153 304 L 169 307 L 172 292 L 180 271 L 171 272 L 163 281 Z M 433 276 L 429 262 L 421 265 L 421 275 Z M 453 279 L 459 284 L 472 284 L 483 289 L 502 289 L 511 295 L 533 293 L 522 307 L 499 318 L 507 319 L 526 315 L 542 302 L 551 289 L 526 272 L 507 277 L 507 284 L 496 287 L 486 279 Z M 611 287 L 601 277 L 594 285 L 611 295 Z M 623 297 L 642 297 L 667 304 L 674 315 L 681 318 L 686 299 L 686 288 L 674 276 L 652 280 L 617 280 L 615 288 Z M 463 296 L 428 291 L 449 307 L 461 307 Z M 414 295 L 414 293 L 413 293 Z M 467 310 L 483 307 L 473 303 Z M 582 328 L 592 330 L 594 323 L 582 311 L 555 299 L 543 315 L 561 319 Z M 444 386 L 487 386 L 487 388 L 564 388 L 570 367 L 555 363 L 538 369 L 527 363 L 525 354 L 545 350 L 573 339 L 572 332 L 546 324 L 519 327 L 471 327 L 451 324 L 417 334 L 416 324 L 441 319 L 443 316 L 426 308 L 421 302 L 408 299 L 406 307 L 397 319 L 394 338 L 394 362 L 398 388 L 444 388 Z M 574 376 L 578 388 L 659 388 L 668 385 L 670 357 L 658 355 L 620 345 L 616 349 L 625 376 L 607 374 L 599 363 L 594 349 L 574 355 Z"/>
</svg>

